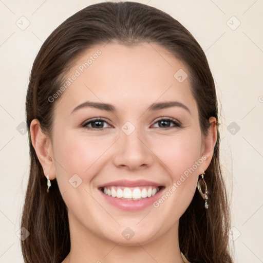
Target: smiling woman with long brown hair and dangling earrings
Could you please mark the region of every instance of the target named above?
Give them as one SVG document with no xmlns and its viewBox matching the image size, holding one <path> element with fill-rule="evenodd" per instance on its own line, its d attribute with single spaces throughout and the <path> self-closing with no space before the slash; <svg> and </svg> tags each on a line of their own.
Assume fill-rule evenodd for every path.
<svg viewBox="0 0 263 263">
<path fill-rule="evenodd" d="M 233 262 L 214 81 L 173 17 L 72 15 L 37 54 L 26 114 L 25 262 Z"/>
</svg>

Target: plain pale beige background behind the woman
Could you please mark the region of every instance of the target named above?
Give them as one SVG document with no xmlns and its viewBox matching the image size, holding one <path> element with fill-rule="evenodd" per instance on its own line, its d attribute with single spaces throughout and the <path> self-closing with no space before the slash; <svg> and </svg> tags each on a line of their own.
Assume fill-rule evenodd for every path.
<svg viewBox="0 0 263 263">
<path fill-rule="evenodd" d="M 0 1 L 1 263 L 23 262 L 16 233 L 29 173 L 24 105 L 32 63 L 58 25 L 85 6 L 99 2 Z M 222 106 L 221 158 L 232 197 L 230 236 L 235 262 L 263 262 L 263 1 L 137 2 L 172 15 L 205 51 Z M 30 25 L 23 28 L 27 23 Z"/>
</svg>

